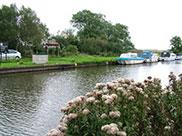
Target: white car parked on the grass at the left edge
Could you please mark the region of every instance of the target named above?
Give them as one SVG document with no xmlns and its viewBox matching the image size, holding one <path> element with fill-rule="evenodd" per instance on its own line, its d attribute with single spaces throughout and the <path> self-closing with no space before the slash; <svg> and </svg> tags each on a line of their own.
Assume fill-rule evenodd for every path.
<svg viewBox="0 0 182 136">
<path fill-rule="evenodd" d="M 7 54 L 6 53 L 0 54 L 0 58 L 2 58 L 2 60 L 21 59 L 21 53 L 13 49 L 8 49 Z"/>
</svg>

